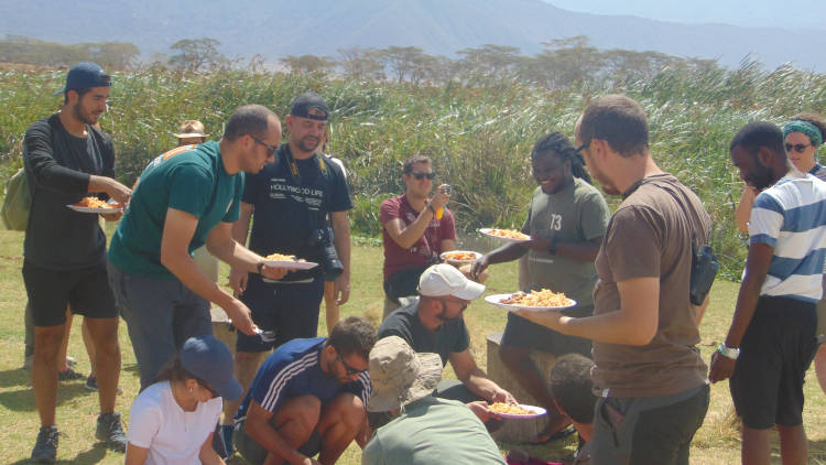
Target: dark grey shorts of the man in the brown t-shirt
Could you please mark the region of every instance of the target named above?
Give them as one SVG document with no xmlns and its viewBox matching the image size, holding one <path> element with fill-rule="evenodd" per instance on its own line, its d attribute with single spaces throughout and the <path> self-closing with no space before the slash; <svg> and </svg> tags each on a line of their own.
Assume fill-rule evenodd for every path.
<svg viewBox="0 0 826 465">
<path fill-rule="evenodd" d="M 708 394 L 704 385 L 674 396 L 600 398 L 594 409 L 591 464 L 688 465 Z"/>
</svg>

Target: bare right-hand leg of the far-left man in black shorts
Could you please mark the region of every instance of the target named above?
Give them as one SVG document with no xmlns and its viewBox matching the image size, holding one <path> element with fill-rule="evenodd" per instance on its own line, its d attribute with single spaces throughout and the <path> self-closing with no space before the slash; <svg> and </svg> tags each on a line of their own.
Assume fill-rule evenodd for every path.
<svg viewBox="0 0 826 465">
<path fill-rule="evenodd" d="M 118 323 L 119 320 L 117 317 L 86 318 L 86 324 L 89 327 L 89 336 L 95 346 L 95 367 L 97 367 L 100 413 L 115 412 L 115 396 L 120 378 Z"/>
</svg>

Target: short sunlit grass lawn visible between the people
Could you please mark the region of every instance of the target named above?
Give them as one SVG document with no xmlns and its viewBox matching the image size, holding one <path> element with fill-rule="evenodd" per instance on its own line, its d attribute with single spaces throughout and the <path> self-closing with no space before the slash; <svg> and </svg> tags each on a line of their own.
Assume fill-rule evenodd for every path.
<svg viewBox="0 0 826 465">
<path fill-rule="evenodd" d="M 25 289 L 20 273 L 22 267 L 23 234 L 0 230 L 0 459 L 2 463 L 25 463 L 36 436 L 39 421 L 31 388 L 30 372 L 23 365 L 23 306 Z M 490 244 L 492 247 L 493 245 Z M 381 315 L 381 262 L 382 250 L 377 247 L 355 247 L 352 258 L 352 289 L 350 302 L 343 315 L 366 315 L 378 321 Z M 512 291 L 517 281 L 514 263 L 498 264 L 491 269 L 488 282 L 490 293 Z M 226 277 L 226 269 L 222 270 Z M 225 279 L 225 278 L 222 278 Z M 711 293 L 711 305 L 703 322 L 702 352 L 709 359 L 714 347 L 725 337 L 737 296 L 738 284 L 718 281 Z M 483 302 L 475 302 L 465 314 L 471 331 L 475 357 L 486 366 L 485 336 L 504 327 L 506 314 Z M 378 323 L 378 322 L 377 322 Z M 80 321 L 75 320 L 69 354 L 77 357 L 79 371 L 88 372 L 89 365 L 80 338 Z M 326 328 L 319 328 L 325 334 Z M 128 422 L 131 400 L 138 393 L 138 374 L 134 356 L 126 327 L 121 325 L 120 344 L 123 354 L 123 370 L 117 410 Z M 447 370 L 447 377 L 453 374 Z M 809 439 L 809 463 L 826 464 L 826 397 L 815 380 L 814 370 L 806 383 L 806 408 L 804 421 Z M 123 455 L 96 445 L 94 440 L 97 415 L 97 394 L 84 389 L 80 381 L 62 383 L 57 398 L 57 423 L 61 430 L 59 463 L 115 464 L 122 463 Z M 728 385 L 711 389 L 711 404 L 705 424 L 697 433 L 692 447 L 693 464 L 739 463 L 739 434 L 732 419 Z M 774 447 L 773 463 L 780 463 L 779 447 Z M 507 451 L 510 444 L 500 444 Z M 570 455 L 574 440 L 544 447 L 530 447 L 533 455 L 547 459 L 562 459 Z M 350 448 L 341 457 L 341 464 L 358 464 L 360 450 Z M 240 464 L 237 457 L 230 463 Z"/>
</svg>

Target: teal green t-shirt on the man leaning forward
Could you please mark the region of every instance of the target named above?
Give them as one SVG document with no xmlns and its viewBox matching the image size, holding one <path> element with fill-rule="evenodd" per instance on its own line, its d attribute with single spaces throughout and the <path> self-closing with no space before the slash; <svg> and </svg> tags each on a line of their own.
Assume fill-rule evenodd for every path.
<svg viewBox="0 0 826 465">
<path fill-rule="evenodd" d="M 198 218 L 189 241 L 192 253 L 206 242 L 218 223 L 238 220 L 242 194 L 243 173 L 227 174 L 218 142 L 173 149 L 143 170 L 112 235 L 109 260 L 130 273 L 173 279 L 172 272 L 161 264 L 166 210 L 175 208 Z"/>
</svg>

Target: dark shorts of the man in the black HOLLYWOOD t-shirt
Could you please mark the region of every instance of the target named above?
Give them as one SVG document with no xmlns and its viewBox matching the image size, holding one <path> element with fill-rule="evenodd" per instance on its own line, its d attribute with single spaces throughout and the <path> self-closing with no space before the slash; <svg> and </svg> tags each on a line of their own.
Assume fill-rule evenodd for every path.
<svg viewBox="0 0 826 465">
<path fill-rule="evenodd" d="M 274 332 L 274 340 L 238 333 L 236 350 L 268 352 L 297 337 L 316 337 L 318 312 L 324 299 L 324 278 L 303 283 L 265 283 L 250 273 L 241 302 L 252 311 L 252 321 L 265 332 Z"/>
</svg>

